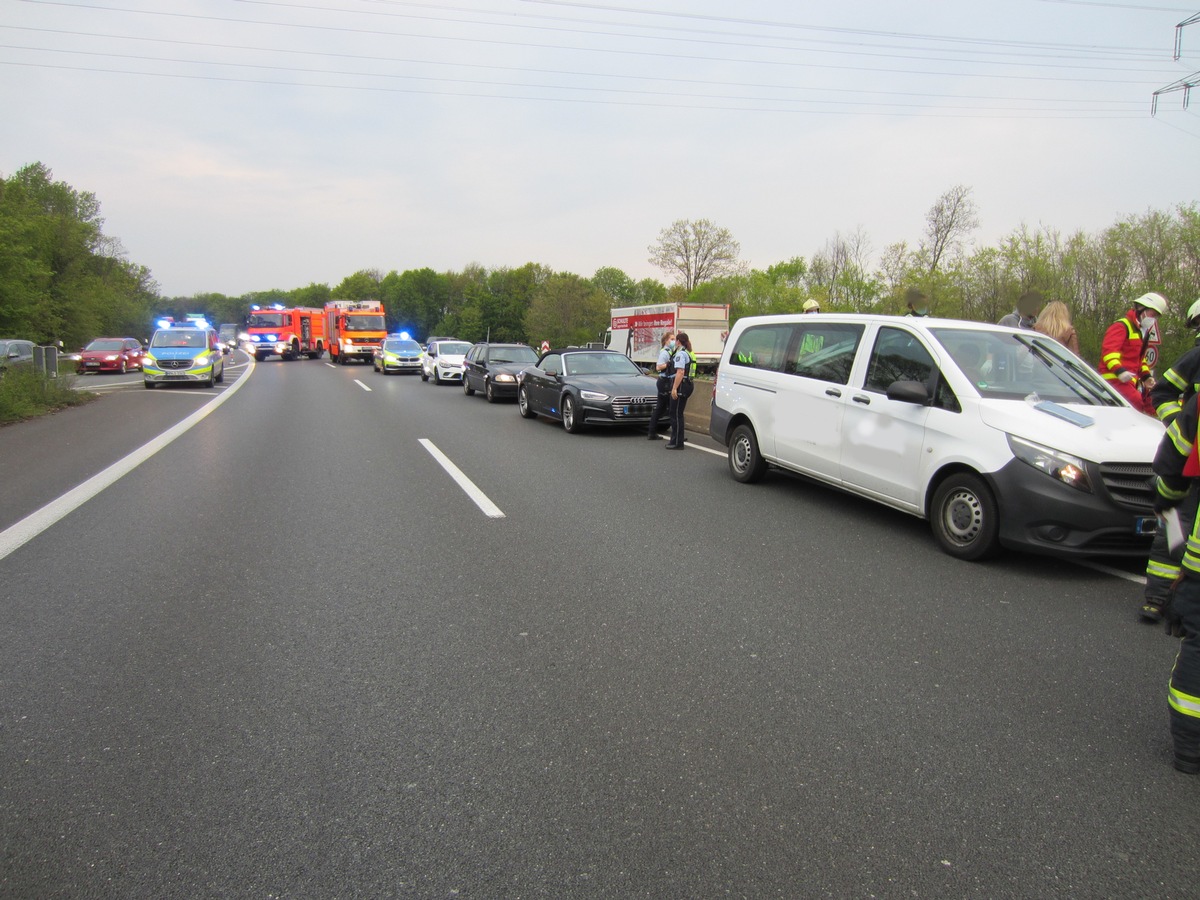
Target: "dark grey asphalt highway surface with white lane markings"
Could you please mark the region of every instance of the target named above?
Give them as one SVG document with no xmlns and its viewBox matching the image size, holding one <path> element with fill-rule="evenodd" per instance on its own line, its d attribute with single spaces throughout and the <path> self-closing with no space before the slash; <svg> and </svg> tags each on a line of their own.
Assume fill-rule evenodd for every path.
<svg viewBox="0 0 1200 900">
<path fill-rule="evenodd" d="M 706 438 L 133 377 L 0 430 L 0 530 L 227 391 L 0 558 L 0 895 L 1195 895 L 1136 583 Z"/>
</svg>

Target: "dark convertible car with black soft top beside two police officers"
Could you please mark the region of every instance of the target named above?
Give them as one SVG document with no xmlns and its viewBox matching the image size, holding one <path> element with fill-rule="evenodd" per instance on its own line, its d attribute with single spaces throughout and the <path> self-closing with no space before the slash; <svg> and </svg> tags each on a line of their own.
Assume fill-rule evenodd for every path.
<svg viewBox="0 0 1200 900">
<path fill-rule="evenodd" d="M 614 350 L 544 353 L 517 374 L 517 409 L 526 419 L 560 419 L 572 434 L 584 425 L 647 425 L 655 379 Z"/>
</svg>

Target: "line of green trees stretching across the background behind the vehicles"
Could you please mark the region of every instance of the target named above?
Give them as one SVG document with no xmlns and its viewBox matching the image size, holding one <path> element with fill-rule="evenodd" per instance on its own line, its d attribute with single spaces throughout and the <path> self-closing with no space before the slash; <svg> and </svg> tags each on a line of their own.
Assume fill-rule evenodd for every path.
<svg viewBox="0 0 1200 900">
<path fill-rule="evenodd" d="M 972 241 L 979 227 L 971 188 L 955 186 L 925 215 L 920 236 L 878 254 L 868 233 L 835 233 L 809 258 L 766 269 L 740 262 L 733 235 L 708 220 L 679 220 L 647 248 L 673 283 L 634 280 L 606 266 L 590 277 L 539 263 L 468 265 L 461 271 L 364 269 L 338 284 L 251 292 L 239 296 L 162 296 L 149 269 L 104 235 L 94 194 L 55 182 L 32 163 L 0 181 L 0 337 L 61 340 L 78 347 L 97 335 L 144 337 L 163 314 L 200 312 L 240 323 L 251 305 L 323 306 L 378 300 L 389 329 L 419 340 L 594 341 L 613 306 L 667 301 L 728 304 L 743 316 L 798 312 L 806 299 L 823 311 L 904 312 L 908 288 L 930 298 L 935 316 L 997 322 L 1025 290 L 1038 289 L 1072 310 L 1082 354 L 1094 360 L 1109 323 L 1156 290 L 1172 305 L 1164 319 L 1164 359 L 1192 343 L 1183 313 L 1200 300 L 1200 208 L 1147 210 L 1099 234 L 1063 234 L 1021 224 L 996 245 Z"/>
</svg>

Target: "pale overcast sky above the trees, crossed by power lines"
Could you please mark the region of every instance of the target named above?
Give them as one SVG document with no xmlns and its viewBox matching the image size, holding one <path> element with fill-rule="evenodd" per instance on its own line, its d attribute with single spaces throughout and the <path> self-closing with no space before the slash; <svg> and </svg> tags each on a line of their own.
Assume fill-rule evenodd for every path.
<svg viewBox="0 0 1200 900">
<path fill-rule="evenodd" d="M 0 175 L 90 191 L 164 295 L 541 263 L 671 282 L 862 229 L 1097 233 L 1200 198 L 1171 0 L 2 0 Z"/>
</svg>

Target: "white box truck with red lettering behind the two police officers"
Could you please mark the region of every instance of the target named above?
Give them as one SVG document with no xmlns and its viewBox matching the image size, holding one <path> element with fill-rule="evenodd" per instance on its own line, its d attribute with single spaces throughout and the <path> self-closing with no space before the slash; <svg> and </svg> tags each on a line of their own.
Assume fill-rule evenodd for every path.
<svg viewBox="0 0 1200 900">
<path fill-rule="evenodd" d="M 664 334 L 685 331 L 696 354 L 696 367 L 712 371 L 730 334 L 730 307 L 724 304 L 622 306 L 610 314 L 605 347 L 624 353 L 641 366 L 658 361 Z"/>
</svg>

